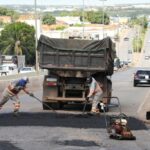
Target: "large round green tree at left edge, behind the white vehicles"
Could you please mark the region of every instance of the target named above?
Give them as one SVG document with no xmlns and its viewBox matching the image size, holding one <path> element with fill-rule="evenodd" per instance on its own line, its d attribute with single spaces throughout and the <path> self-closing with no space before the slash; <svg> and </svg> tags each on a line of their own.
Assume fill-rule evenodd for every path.
<svg viewBox="0 0 150 150">
<path fill-rule="evenodd" d="M 1 31 L 0 53 L 25 55 L 27 64 L 35 63 L 35 30 L 33 26 L 17 22 L 8 24 Z"/>
</svg>

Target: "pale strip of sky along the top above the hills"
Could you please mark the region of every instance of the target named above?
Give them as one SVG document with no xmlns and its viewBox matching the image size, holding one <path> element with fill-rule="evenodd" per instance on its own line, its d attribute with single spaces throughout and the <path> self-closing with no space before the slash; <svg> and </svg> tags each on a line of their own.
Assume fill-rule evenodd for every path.
<svg viewBox="0 0 150 150">
<path fill-rule="evenodd" d="M 34 4 L 37 5 L 99 5 L 103 4 L 102 0 L 0 0 L 0 5 L 5 4 Z M 134 4 L 134 3 L 149 3 L 150 0 L 104 0 L 105 5 L 116 4 Z"/>
</svg>

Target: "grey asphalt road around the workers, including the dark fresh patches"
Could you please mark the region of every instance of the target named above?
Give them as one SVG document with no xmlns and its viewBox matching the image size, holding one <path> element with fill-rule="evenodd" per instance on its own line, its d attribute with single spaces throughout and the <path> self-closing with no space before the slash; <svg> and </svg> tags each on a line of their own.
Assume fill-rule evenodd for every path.
<svg viewBox="0 0 150 150">
<path fill-rule="evenodd" d="M 9 101 L 0 113 L 0 150 L 148 150 L 150 132 L 138 119 L 137 110 L 149 87 L 133 87 L 135 69 L 117 72 L 112 76 L 113 96 L 121 103 L 122 112 L 128 115 L 129 127 L 136 141 L 109 139 L 105 115 L 82 115 L 83 106 L 65 107 L 65 110 L 43 111 L 42 105 L 27 95 L 20 95 L 21 110 L 18 117 L 12 114 Z M 41 99 L 42 89 L 34 91 Z M 112 103 L 116 103 L 112 100 Z M 88 109 L 86 110 L 88 111 Z M 111 107 L 109 115 L 118 114 Z"/>
</svg>

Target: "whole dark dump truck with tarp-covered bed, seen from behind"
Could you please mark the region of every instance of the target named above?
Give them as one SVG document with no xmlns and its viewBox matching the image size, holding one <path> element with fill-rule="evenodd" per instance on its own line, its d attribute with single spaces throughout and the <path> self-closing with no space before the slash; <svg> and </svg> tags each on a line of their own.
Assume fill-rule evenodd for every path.
<svg viewBox="0 0 150 150">
<path fill-rule="evenodd" d="M 37 50 L 40 68 L 47 70 L 43 80 L 43 109 L 48 109 L 46 105 L 60 109 L 69 103 L 85 103 L 89 76 L 103 83 L 103 102 L 106 106 L 110 103 L 115 46 L 109 37 L 83 40 L 41 35 Z"/>
</svg>

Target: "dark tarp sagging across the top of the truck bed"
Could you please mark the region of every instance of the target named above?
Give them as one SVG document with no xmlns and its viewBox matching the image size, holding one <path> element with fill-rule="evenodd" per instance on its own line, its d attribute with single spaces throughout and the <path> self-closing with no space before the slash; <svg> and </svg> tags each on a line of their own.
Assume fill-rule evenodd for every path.
<svg viewBox="0 0 150 150">
<path fill-rule="evenodd" d="M 113 42 L 109 37 L 103 40 L 77 40 L 49 38 L 41 35 L 37 49 L 40 50 L 43 44 L 59 50 L 96 51 L 100 49 L 109 49 L 110 54 L 113 51 Z"/>
</svg>

